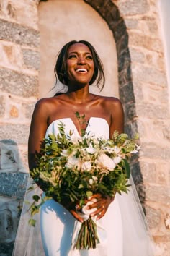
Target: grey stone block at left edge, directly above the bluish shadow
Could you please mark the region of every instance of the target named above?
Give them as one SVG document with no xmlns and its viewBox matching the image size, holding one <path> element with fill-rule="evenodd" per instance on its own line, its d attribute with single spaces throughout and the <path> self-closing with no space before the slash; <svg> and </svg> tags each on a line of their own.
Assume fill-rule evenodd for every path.
<svg viewBox="0 0 170 256">
<path fill-rule="evenodd" d="M 14 140 L 17 144 L 27 144 L 30 125 L 1 124 L 0 140 Z"/>
</svg>

